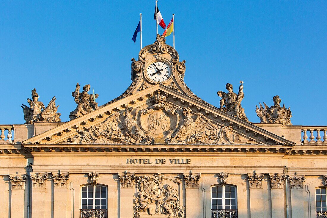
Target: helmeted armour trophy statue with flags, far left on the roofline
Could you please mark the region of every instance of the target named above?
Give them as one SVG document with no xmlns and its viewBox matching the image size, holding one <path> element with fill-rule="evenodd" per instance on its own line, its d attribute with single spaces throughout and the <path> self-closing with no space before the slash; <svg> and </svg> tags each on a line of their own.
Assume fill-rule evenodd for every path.
<svg viewBox="0 0 327 218">
<path fill-rule="evenodd" d="M 55 100 L 53 97 L 49 102 L 48 106 L 45 108 L 42 101 L 38 101 L 40 96 L 36 92 L 36 89 L 32 89 L 32 99 L 27 99 L 30 107 L 23 104 L 21 106 L 24 112 L 24 119 L 26 124 L 31 124 L 36 121 L 48 121 L 48 122 L 60 122 L 60 113 L 57 113 L 58 106 L 56 106 Z"/>
</svg>

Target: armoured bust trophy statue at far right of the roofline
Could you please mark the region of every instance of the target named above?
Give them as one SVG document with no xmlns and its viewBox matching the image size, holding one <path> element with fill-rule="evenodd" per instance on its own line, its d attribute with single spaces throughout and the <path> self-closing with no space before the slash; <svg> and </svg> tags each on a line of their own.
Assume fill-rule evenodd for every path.
<svg viewBox="0 0 327 218">
<path fill-rule="evenodd" d="M 265 102 L 263 102 L 265 108 L 263 108 L 261 103 L 259 103 L 260 108 L 255 105 L 255 112 L 260 118 L 260 121 L 262 123 L 283 123 L 283 125 L 292 125 L 292 112 L 290 110 L 290 107 L 288 109 L 285 108 L 285 105 L 281 107 L 280 103 L 282 102 L 282 100 L 279 98 L 278 95 L 274 96 L 272 100 L 274 101 L 274 105 L 271 107 L 268 107 Z"/>
</svg>

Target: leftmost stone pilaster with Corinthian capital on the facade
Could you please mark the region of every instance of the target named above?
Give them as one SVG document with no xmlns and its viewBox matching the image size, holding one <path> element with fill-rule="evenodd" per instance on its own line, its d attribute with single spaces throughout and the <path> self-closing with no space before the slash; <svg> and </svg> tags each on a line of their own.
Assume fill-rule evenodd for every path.
<svg viewBox="0 0 327 218">
<path fill-rule="evenodd" d="M 11 217 L 24 217 L 26 175 L 9 174 L 11 183 Z"/>
</svg>

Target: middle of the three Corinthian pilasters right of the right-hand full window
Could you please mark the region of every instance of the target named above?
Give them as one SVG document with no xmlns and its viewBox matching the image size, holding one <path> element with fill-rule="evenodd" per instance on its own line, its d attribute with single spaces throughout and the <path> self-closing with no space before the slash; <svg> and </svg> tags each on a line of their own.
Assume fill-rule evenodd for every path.
<svg viewBox="0 0 327 218">
<path fill-rule="evenodd" d="M 271 189 L 271 215 L 274 218 L 284 218 L 284 181 L 285 173 L 269 173 Z"/>
</svg>

